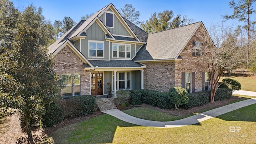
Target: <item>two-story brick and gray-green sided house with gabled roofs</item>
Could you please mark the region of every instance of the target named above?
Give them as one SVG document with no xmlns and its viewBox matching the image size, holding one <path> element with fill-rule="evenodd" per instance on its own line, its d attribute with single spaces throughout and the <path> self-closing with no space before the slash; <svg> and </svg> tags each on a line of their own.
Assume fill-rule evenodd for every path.
<svg viewBox="0 0 256 144">
<path fill-rule="evenodd" d="M 113 4 L 81 20 L 48 47 L 66 87 L 61 96 L 106 95 L 118 90 L 197 92 L 209 88 L 207 66 L 192 45 L 202 22 L 148 34 L 123 18 Z"/>
</svg>

